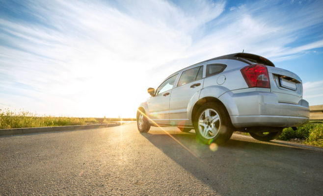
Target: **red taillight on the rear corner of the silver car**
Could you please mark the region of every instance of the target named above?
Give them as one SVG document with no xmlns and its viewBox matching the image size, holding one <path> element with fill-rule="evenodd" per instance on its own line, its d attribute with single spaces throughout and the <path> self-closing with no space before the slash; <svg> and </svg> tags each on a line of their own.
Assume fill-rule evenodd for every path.
<svg viewBox="0 0 323 196">
<path fill-rule="evenodd" d="M 267 67 L 262 64 L 248 65 L 242 68 L 241 73 L 249 88 L 260 87 L 270 88 L 269 74 Z"/>
</svg>

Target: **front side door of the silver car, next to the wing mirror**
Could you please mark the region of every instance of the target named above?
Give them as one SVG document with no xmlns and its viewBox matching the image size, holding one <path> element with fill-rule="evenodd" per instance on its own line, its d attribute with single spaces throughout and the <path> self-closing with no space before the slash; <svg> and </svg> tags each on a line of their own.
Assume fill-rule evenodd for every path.
<svg viewBox="0 0 323 196">
<path fill-rule="evenodd" d="M 155 96 L 147 101 L 149 106 L 149 118 L 152 123 L 160 125 L 169 124 L 169 99 L 170 93 L 178 74 L 170 76 L 156 89 Z"/>
</svg>

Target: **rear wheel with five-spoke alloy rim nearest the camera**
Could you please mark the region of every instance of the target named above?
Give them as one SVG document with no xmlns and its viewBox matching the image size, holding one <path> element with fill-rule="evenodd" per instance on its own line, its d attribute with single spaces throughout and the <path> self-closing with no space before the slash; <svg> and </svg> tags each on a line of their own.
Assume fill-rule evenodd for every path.
<svg viewBox="0 0 323 196">
<path fill-rule="evenodd" d="M 221 145 L 232 136 L 233 129 L 226 111 L 218 103 L 202 105 L 194 118 L 195 133 L 199 141 Z"/>
</svg>

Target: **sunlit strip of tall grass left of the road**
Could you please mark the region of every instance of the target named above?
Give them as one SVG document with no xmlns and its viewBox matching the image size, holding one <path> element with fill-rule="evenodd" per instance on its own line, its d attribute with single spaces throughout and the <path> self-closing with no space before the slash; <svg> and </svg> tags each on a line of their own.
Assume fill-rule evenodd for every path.
<svg viewBox="0 0 323 196">
<path fill-rule="evenodd" d="M 133 119 L 124 119 L 133 120 Z M 39 116 L 31 112 L 20 110 L 12 112 L 9 109 L 0 109 L 0 129 L 41 127 L 41 126 L 66 126 L 66 125 L 84 125 L 93 123 L 111 123 L 111 121 L 120 121 L 119 118 L 74 118 L 74 117 L 54 117 Z"/>
</svg>

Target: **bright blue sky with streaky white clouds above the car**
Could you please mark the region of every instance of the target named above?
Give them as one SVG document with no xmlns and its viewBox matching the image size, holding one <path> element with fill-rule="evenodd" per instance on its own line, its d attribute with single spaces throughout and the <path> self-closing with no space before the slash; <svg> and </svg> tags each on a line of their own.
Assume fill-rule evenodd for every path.
<svg viewBox="0 0 323 196">
<path fill-rule="evenodd" d="M 0 109 L 135 117 L 168 75 L 244 52 L 323 104 L 322 0 L 0 0 Z"/>
</svg>

